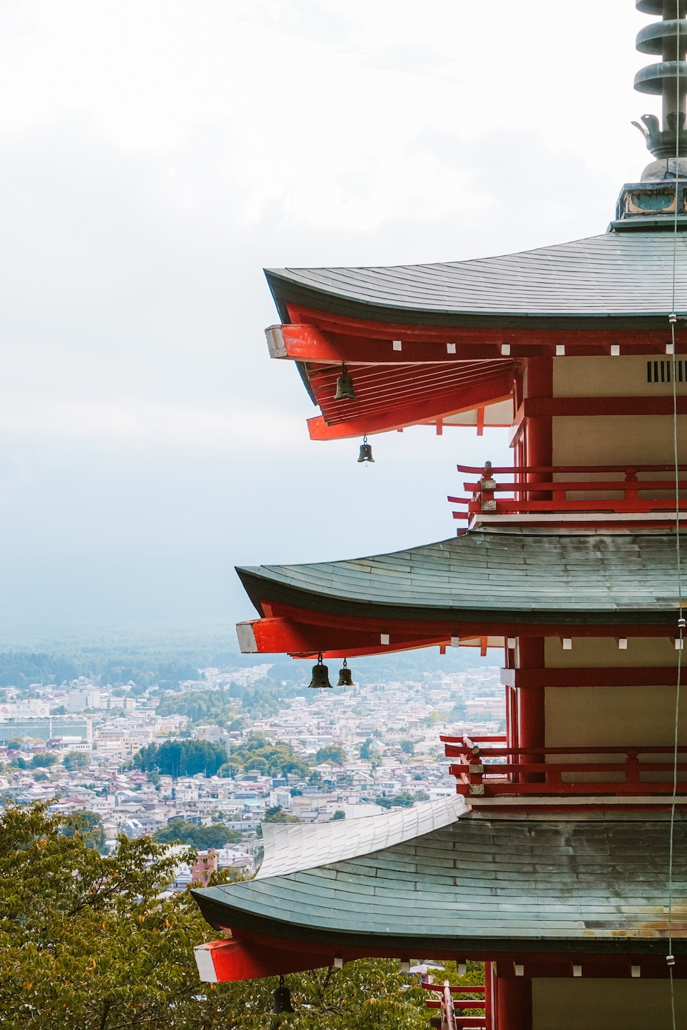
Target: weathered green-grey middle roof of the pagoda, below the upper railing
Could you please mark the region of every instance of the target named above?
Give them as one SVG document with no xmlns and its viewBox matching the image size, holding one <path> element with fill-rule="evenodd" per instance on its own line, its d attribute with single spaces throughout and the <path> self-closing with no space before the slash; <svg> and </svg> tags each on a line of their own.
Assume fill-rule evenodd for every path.
<svg viewBox="0 0 687 1030">
<path fill-rule="evenodd" d="M 665 624 L 678 608 L 675 535 L 477 530 L 347 561 L 239 568 L 261 600 L 389 619 Z"/>
</svg>

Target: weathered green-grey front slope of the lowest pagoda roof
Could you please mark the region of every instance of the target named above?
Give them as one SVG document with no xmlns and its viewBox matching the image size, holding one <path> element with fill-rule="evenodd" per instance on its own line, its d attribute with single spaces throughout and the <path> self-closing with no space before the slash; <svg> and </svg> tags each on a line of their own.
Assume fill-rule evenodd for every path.
<svg viewBox="0 0 687 1030">
<path fill-rule="evenodd" d="M 639 816 L 639 814 L 637 814 Z M 674 933 L 687 950 L 687 833 L 675 830 Z M 461 818 L 391 848 L 194 891 L 215 926 L 273 937 L 491 951 L 637 951 L 666 933 L 661 819 Z"/>
</svg>

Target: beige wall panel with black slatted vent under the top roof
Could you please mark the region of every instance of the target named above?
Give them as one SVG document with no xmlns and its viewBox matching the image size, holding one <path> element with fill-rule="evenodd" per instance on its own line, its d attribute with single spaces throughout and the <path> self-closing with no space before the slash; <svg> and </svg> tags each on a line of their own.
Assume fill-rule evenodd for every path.
<svg viewBox="0 0 687 1030">
<path fill-rule="evenodd" d="M 680 359 L 684 360 L 684 358 Z M 608 357 L 554 357 L 553 396 L 673 397 L 672 382 L 650 383 L 647 381 L 648 360 L 652 363 L 654 360 L 671 362 L 671 358 L 665 354 L 656 354 L 652 358 L 641 356 L 611 357 L 610 355 Z M 665 365 L 663 367 L 666 368 Z M 677 385 L 679 394 L 687 393 L 687 382 L 678 382 Z"/>
</svg>

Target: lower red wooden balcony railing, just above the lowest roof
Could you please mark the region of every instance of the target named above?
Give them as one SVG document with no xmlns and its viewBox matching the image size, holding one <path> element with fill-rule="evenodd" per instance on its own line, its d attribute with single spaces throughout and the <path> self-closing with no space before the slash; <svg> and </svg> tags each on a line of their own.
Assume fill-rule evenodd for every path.
<svg viewBox="0 0 687 1030">
<path fill-rule="evenodd" d="M 588 748 L 509 748 L 505 736 L 442 736 L 446 757 L 457 758 L 450 774 L 457 779 L 457 792 L 468 797 L 506 794 L 611 794 L 661 795 L 673 793 L 674 748 L 671 745 Z M 678 753 L 687 753 L 680 746 Z M 593 758 L 618 756 L 617 761 L 565 761 L 563 756 Z M 665 755 L 664 761 L 646 761 L 642 756 Z M 551 761 L 557 757 L 558 761 Z M 505 758 L 506 761 L 497 761 Z M 533 760 L 534 759 L 534 760 Z M 563 760 L 560 760 L 563 759 Z M 678 763 L 687 772 L 687 762 Z M 584 781 L 576 776 L 584 775 Z M 594 774 L 614 775 L 616 780 L 594 780 Z M 647 775 L 660 780 L 646 780 Z M 565 778 L 565 779 L 563 779 Z M 678 793 L 687 794 L 687 782 L 678 782 Z"/>
</svg>

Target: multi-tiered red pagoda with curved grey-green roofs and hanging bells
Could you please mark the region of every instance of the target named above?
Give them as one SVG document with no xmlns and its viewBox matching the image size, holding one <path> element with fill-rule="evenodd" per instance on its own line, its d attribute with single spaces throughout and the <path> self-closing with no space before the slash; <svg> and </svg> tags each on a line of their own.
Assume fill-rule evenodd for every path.
<svg viewBox="0 0 687 1030">
<path fill-rule="evenodd" d="M 204 980 L 475 960 L 485 1015 L 456 1016 L 449 989 L 435 1025 L 644 1030 L 672 997 L 687 1020 L 687 0 L 637 7 L 659 60 L 634 85 L 663 115 L 638 124 L 655 160 L 605 233 L 267 272 L 270 355 L 297 363 L 313 440 L 497 425 L 514 460 L 458 467 L 440 543 L 239 569 L 259 613 L 242 650 L 312 656 L 327 684 L 331 659 L 502 648 L 507 728 L 443 739 L 452 798 L 266 824 L 253 881 L 195 891 L 232 934 L 197 950 Z"/>
</svg>

